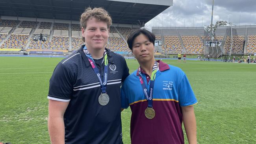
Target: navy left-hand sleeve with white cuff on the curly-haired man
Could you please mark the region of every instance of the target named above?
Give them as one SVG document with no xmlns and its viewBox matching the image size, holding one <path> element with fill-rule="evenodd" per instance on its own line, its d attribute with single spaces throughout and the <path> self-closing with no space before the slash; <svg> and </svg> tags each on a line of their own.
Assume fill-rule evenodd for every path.
<svg viewBox="0 0 256 144">
<path fill-rule="evenodd" d="M 72 75 L 65 65 L 59 63 L 50 78 L 48 99 L 69 102 L 72 92 Z"/>
</svg>

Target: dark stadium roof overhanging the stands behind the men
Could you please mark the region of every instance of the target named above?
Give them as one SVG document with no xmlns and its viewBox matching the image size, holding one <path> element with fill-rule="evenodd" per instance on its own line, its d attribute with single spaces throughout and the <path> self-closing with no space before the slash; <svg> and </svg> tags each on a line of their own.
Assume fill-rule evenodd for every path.
<svg viewBox="0 0 256 144">
<path fill-rule="evenodd" d="M 0 0 L 0 15 L 79 20 L 85 7 L 89 6 L 104 7 L 113 23 L 119 24 L 146 23 L 169 7 L 111 0 Z"/>
</svg>

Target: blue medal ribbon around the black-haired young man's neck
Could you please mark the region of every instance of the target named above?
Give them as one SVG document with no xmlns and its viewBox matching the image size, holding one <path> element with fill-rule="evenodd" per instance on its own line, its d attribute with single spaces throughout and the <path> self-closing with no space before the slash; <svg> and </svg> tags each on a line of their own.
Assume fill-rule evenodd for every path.
<svg viewBox="0 0 256 144">
<path fill-rule="evenodd" d="M 156 72 L 157 72 L 157 62 L 155 61 L 154 66 L 152 68 L 152 74 L 150 77 L 150 85 L 149 85 L 149 90 L 147 89 L 146 83 L 142 77 L 141 74 L 141 67 L 139 67 L 139 81 L 141 82 L 142 90 L 145 94 L 145 97 L 148 101 L 148 107 L 153 107 L 153 89 L 154 89 L 154 83 L 155 83 L 155 78 L 156 78 Z"/>
</svg>

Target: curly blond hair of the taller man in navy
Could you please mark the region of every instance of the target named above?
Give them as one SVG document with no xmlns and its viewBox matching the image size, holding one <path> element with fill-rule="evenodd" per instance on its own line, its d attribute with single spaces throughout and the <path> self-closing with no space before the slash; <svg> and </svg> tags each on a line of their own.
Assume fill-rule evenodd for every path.
<svg viewBox="0 0 256 144">
<path fill-rule="evenodd" d="M 80 26 L 81 28 L 86 28 L 87 20 L 89 18 L 96 18 L 99 21 L 106 22 L 108 29 L 112 24 L 112 19 L 109 15 L 109 13 L 103 9 L 102 7 L 95 7 L 91 9 L 91 7 L 88 7 L 85 9 L 85 11 L 82 13 L 80 18 Z M 83 42 L 85 42 L 85 38 L 82 37 Z"/>
</svg>

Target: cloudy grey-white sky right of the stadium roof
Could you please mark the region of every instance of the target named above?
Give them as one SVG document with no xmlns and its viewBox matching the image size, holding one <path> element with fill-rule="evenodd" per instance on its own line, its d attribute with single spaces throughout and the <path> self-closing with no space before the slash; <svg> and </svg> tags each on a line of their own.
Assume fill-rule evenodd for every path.
<svg viewBox="0 0 256 144">
<path fill-rule="evenodd" d="M 210 25 L 212 0 L 173 0 L 169 7 L 145 24 L 152 26 Z M 214 0 L 213 24 L 226 20 L 235 24 L 256 24 L 256 0 Z"/>
</svg>

